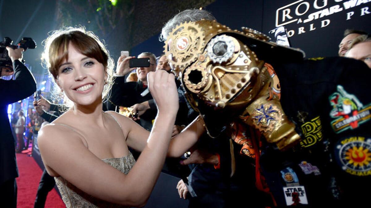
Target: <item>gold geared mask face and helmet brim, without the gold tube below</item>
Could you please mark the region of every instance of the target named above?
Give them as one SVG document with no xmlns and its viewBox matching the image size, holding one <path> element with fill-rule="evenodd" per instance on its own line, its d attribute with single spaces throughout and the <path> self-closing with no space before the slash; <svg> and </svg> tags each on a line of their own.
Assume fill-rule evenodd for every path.
<svg viewBox="0 0 371 208">
<path fill-rule="evenodd" d="M 187 92 L 207 105 L 236 109 L 259 93 L 262 86 L 256 85 L 264 85 L 258 76 L 266 61 L 263 57 L 276 52 L 286 53 L 286 58 L 303 56 L 300 50 L 280 47 L 269 40 L 250 28 L 237 31 L 216 21 L 201 20 L 175 27 L 165 41 L 164 52 Z"/>
</svg>

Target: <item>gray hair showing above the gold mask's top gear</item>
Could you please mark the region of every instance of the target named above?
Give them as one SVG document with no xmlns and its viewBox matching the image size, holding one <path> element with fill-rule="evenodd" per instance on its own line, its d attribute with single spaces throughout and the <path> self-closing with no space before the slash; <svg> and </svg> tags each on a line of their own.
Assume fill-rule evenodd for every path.
<svg viewBox="0 0 371 208">
<path fill-rule="evenodd" d="M 184 23 L 186 21 L 199 21 L 199 20 L 215 20 L 215 17 L 206 10 L 200 9 L 187 9 L 171 18 L 167 23 L 162 27 L 162 31 L 158 40 L 165 41 L 167 36 L 177 25 Z"/>
</svg>

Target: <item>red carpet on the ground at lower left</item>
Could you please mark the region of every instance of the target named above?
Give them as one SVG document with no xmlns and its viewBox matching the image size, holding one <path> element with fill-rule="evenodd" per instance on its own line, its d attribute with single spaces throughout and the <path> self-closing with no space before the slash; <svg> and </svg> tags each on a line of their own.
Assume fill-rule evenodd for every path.
<svg viewBox="0 0 371 208">
<path fill-rule="evenodd" d="M 19 170 L 19 177 L 17 178 L 17 207 L 33 208 L 37 187 L 39 187 L 43 172 L 35 160 L 32 157 L 28 157 L 28 154 L 17 153 L 17 164 Z M 53 189 L 47 195 L 45 207 L 65 208 L 66 206 L 55 189 Z"/>
</svg>

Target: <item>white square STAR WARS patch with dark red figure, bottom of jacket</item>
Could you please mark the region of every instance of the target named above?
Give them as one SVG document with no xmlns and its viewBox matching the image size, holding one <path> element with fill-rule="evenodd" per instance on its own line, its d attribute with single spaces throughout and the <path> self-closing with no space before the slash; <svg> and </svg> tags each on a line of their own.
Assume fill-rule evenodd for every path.
<svg viewBox="0 0 371 208">
<path fill-rule="evenodd" d="M 283 187 L 283 193 L 285 194 L 286 205 L 288 206 L 308 204 L 303 186 Z"/>
</svg>

